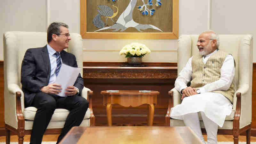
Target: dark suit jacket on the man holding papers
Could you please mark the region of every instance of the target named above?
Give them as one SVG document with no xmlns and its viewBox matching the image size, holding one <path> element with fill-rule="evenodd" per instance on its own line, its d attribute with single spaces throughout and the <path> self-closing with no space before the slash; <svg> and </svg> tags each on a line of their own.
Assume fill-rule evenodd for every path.
<svg viewBox="0 0 256 144">
<path fill-rule="evenodd" d="M 60 52 L 60 56 L 62 63 L 77 67 L 75 55 L 63 50 Z M 28 49 L 21 64 L 21 90 L 24 92 L 25 107 L 31 106 L 36 93 L 41 92 L 40 88 L 48 85 L 50 73 L 51 65 L 47 45 Z M 79 95 L 81 95 L 84 80 L 80 74 L 74 86 L 79 89 Z"/>
</svg>

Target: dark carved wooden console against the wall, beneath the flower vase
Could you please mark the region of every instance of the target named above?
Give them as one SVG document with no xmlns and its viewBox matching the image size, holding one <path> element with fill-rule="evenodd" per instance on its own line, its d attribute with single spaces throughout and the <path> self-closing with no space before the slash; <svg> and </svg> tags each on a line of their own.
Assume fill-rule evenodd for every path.
<svg viewBox="0 0 256 144">
<path fill-rule="evenodd" d="M 154 126 L 163 126 L 168 108 L 168 91 L 174 87 L 177 77 L 176 62 L 142 62 L 146 67 L 121 67 L 127 62 L 84 62 L 85 87 L 93 91 L 93 113 L 96 125 L 107 126 L 106 106 L 100 94 L 104 90 L 158 91 Z M 135 108 L 115 106 L 112 109 L 114 125 L 147 125 L 147 105 Z M 127 122 L 129 122 L 127 124 Z"/>
</svg>

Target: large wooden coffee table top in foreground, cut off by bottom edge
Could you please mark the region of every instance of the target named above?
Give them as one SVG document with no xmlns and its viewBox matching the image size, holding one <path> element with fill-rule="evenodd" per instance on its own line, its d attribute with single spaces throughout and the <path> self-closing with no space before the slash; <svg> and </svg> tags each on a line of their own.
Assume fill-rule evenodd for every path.
<svg viewBox="0 0 256 144">
<path fill-rule="evenodd" d="M 73 127 L 60 144 L 203 144 L 185 126 Z"/>
</svg>

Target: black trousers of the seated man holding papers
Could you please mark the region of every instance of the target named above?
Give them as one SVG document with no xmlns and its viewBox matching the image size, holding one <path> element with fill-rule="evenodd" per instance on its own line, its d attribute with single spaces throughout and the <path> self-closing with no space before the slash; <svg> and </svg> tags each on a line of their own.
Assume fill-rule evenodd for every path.
<svg viewBox="0 0 256 144">
<path fill-rule="evenodd" d="M 32 127 L 30 144 L 41 144 L 44 132 L 52 118 L 56 108 L 69 110 L 68 117 L 64 124 L 57 143 L 68 133 L 73 126 L 79 126 L 89 107 L 88 101 L 81 96 L 53 96 L 44 92 L 38 92 L 34 97 L 32 107 L 36 107 L 36 116 Z"/>
</svg>

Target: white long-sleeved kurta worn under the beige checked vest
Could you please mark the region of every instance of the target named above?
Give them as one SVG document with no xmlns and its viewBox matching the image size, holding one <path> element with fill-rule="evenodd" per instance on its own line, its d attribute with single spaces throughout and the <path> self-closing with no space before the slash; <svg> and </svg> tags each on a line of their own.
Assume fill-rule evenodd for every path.
<svg viewBox="0 0 256 144">
<path fill-rule="evenodd" d="M 217 52 L 215 50 L 209 55 L 203 57 L 204 64 L 209 57 Z M 187 87 L 188 82 L 192 80 L 192 57 L 188 60 L 186 66 L 181 70 L 179 76 L 175 81 L 175 88 L 180 92 Z M 226 91 L 232 84 L 235 76 L 234 59 L 232 55 L 228 55 L 224 60 L 220 69 L 220 79 L 210 84 L 206 84 L 199 88 L 200 94 L 186 97 L 181 104 L 172 108 L 171 117 L 174 119 L 182 119 L 182 115 L 195 112 L 204 112 L 205 116 L 218 124 L 223 126 L 225 118 L 232 112 L 233 105 L 230 100 L 220 93 L 212 92 L 217 90 Z"/>
</svg>

